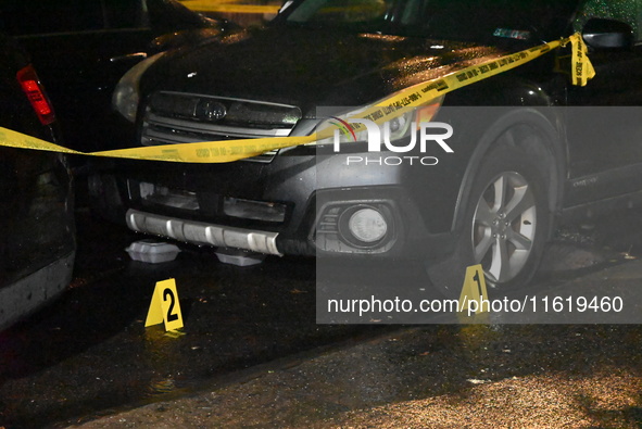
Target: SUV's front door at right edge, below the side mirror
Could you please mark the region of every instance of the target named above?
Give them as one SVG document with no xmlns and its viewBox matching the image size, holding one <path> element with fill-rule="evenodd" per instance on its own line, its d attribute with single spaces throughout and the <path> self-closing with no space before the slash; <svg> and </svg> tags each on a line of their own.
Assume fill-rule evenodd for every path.
<svg viewBox="0 0 642 429">
<path fill-rule="evenodd" d="M 632 49 L 590 50 L 596 75 L 569 87 L 568 205 L 642 189 L 642 27 L 640 0 L 588 0 L 574 22 L 616 20 L 633 31 Z"/>
</svg>

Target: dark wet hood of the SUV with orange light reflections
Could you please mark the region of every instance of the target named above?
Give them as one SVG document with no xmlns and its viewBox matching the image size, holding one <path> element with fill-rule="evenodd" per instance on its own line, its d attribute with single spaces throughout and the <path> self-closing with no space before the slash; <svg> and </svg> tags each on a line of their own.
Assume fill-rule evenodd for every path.
<svg viewBox="0 0 642 429">
<path fill-rule="evenodd" d="M 167 54 L 147 72 L 141 89 L 287 103 L 306 112 L 374 102 L 505 52 L 468 42 L 272 27 Z"/>
</svg>

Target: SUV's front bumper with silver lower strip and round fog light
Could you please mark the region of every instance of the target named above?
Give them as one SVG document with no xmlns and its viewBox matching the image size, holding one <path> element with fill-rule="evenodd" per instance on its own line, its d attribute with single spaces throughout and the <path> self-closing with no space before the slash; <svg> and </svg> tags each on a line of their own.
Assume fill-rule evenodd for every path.
<svg viewBox="0 0 642 429">
<path fill-rule="evenodd" d="M 102 215 L 133 230 L 197 245 L 338 257 L 439 258 L 452 251 L 455 203 L 442 197 L 449 182 L 438 180 L 438 169 L 347 168 L 344 156 L 312 153 L 269 164 L 131 162 L 95 175 L 90 194 Z M 383 238 L 351 237 L 349 219 L 360 210 L 379 212 Z"/>
</svg>

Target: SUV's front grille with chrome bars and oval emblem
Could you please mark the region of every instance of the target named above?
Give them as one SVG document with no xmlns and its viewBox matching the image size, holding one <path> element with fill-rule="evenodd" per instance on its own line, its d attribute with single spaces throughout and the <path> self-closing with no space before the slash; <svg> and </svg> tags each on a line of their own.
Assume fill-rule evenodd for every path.
<svg viewBox="0 0 642 429">
<path fill-rule="evenodd" d="M 287 137 L 300 118 L 301 110 L 292 105 L 155 92 L 144 111 L 141 144 Z M 244 161 L 270 162 L 277 152 Z"/>
</svg>

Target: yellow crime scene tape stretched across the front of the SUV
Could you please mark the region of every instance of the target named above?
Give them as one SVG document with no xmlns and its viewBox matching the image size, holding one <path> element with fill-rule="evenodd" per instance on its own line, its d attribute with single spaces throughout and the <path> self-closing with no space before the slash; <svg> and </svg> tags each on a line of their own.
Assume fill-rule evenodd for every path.
<svg viewBox="0 0 642 429">
<path fill-rule="evenodd" d="M 559 47 L 571 43 L 571 81 L 574 85 L 584 86 L 595 75 L 595 71 L 588 58 L 588 49 L 581 35 L 575 34 L 568 38 L 544 43 L 528 50 L 503 55 L 491 61 L 464 67 L 445 76 L 426 80 L 400 90 L 383 100 L 368 106 L 358 115 L 352 117 L 370 119 L 376 123 L 390 121 L 399 111 L 405 108 L 427 105 L 430 101 L 456 89 L 499 75 L 508 70 L 524 65 Z M 358 129 L 360 125 L 354 124 Z M 204 141 L 197 143 L 163 144 L 139 147 L 101 152 L 79 152 L 50 143 L 0 127 L 0 146 L 33 149 L 41 151 L 71 153 L 88 156 L 106 156 L 133 160 L 182 162 L 182 163 L 226 163 L 247 157 L 257 156 L 270 150 L 291 148 L 312 143 L 333 136 L 336 126 L 327 126 L 310 136 L 301 137 L 269 137 L 259 139 Z"/>
</svg>

